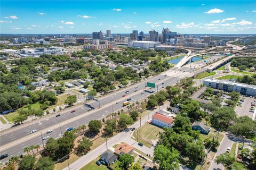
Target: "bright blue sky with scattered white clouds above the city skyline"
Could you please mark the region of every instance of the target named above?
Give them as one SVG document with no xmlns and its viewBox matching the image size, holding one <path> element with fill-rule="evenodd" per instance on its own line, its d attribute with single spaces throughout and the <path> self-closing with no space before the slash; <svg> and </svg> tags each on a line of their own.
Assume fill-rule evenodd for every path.
<svg viewBox="0 0 256 170">
<path fill-rule="evenodd" d="M 2 1 L 1 33 L 256 33 L 256 1 Z"/>
</svg>

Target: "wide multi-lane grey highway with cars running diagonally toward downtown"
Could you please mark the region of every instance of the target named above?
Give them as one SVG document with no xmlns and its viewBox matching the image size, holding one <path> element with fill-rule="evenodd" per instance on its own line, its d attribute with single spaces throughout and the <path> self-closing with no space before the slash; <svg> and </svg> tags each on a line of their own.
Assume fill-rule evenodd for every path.
<svg viewBox="0 0 256 170">
<path fill-rule="evenodd" d="M 207 58 L 206 60 L 210 60 Z M 147 80 L 147 82 L 155 82 L 158 85 L 158 90 L 162 89 L 166 85 L 171 85 L 177 83 L 180 79 L 189 77 L 193 75 L 189 65 L 185 65 L 179 69 L 176 67 L 170 69 L 169 71 L 159 74 L 154 78 Z M 166 76 L 165 76 L 166 75 Z M 164 83 L 164 84 L 162 84 Z M 135 86 L 138 88 L 137 92 L 135 91 Z M 41 145 L 42 146 L 42 137 L 49 136 L 52 138 L 59 138 L 62 133 L 66 131 L 67 128 L 72 127 L 76 128 L 79 125 L 87 124 L 90 120 L 97 120 L 103 117 L 106 117 L 108 113 L 116 112 L 118 110 L 124 109 L 122 104 L 127 98 L 132 98 L 132 103 L 135 103 L 136 100 L 141 100 L 151 94 L 144 92 L 145 82 L 140 82 L 134 86 L 127 87 L 124 90 L 119 90 L 114 94 L 110 94 L 100 98 L 100 107 L 98 108 L 98 102 L 90 102 L 91 106 L 95 109 L 93 111 L 87 112 L 87 107 L 78 106 L 67 111 L 63 111 L 61 116 L 55 117 L 55 115 L 42 118 L 37 121 L 30 122 L 24 126 L 19 126 L 14 129 L 10 129 L 1 133 L 0 142 L 0 155 L 9 154 L 9 157 L 2 159 L 1 162 L 6 162 L 12 156 L 17 156 L 23 154 L 23 149 L 31 145 Z M 129 91 L 125 97 L 122 95 L 125 94 L 125 91 Z M 156 90 L 155 90 L 156 91 Z M 142 94 L 143 92 L 143 94 Z M 119 102 L 119 103 L 117 103 Z M 71 113 L 72 110 L 76 112 Z M 31 130 L 36 129 L 37 132 L 30 134 Z M 52 129 L 53 132 L 46 134 L 47 130 Z M 41 137 L 42 132 L 42 137 Z M 46 140 L 44 141 L 44 143 Z"/>
</svg>

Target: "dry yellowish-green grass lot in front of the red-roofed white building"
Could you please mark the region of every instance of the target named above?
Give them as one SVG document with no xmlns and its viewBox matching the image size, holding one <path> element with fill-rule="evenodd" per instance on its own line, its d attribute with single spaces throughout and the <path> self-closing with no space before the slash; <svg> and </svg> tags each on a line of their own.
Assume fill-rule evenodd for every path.
<svg viewBox="0 0 256 170">
<path fill-rule="evenodd" d="M 151 148 L 154 144 L 154 140 L 158 139 L 159 132 L 163 132 L 163 129 L 147 123 L 139 129 L 139 142 Z M 137 135 L 138 135 L 138 129 L 133 132 L 133 138 L 135 140 L 137 140 Z"/>
</svg>

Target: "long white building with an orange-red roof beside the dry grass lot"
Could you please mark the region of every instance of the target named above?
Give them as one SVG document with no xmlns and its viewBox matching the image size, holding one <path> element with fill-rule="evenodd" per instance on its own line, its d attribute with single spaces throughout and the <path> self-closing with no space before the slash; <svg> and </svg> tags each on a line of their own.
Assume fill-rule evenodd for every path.
<svg viewBox="0 0 256 170">
<path fill-rule="evenodd" d="M 152 116 L 152 124 L 155 124 L 157 126 L 160 126 L 162 128 L 166 127 L 166 128 L 171 128 L 173 125 L 174 119 L 169 117 L 169 116 L 165 116 L 162 115 L 160 113 L 155 113 Z"/>
</svg>

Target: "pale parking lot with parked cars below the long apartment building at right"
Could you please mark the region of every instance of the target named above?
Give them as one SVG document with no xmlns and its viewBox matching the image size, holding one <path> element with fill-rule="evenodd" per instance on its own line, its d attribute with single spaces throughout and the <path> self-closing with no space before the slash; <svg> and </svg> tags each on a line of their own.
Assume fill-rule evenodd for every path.
<svg viewBox="0 0 256 170">
<path fill-rule="evenodd" d="M 254 98 L 251 97 L 243 97 L 244 101 L 240 101 L 241 106 L 236 106 L 235 112 L 238 116 L 253 116 L 253 111 L 255 110 L 255 106 L 251 106 L 251 103 L 254 102 Z M 250 109 L 253 107 L 253 110 Z"/>
</svg>

